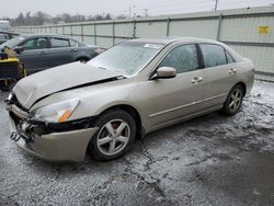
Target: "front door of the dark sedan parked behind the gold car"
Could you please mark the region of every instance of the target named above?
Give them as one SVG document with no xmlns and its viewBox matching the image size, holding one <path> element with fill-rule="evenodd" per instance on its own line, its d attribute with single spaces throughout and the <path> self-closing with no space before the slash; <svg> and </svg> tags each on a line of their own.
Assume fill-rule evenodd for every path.
<svg viewBox="0 0 274 206">
<path fill-rule="evenodd" d="M 28 38 L 19 46 L 24 50 L 18 57 L 24 62 L 27 75 L 41 71 L 45 68 L 44 55 L 48 49 L 47 37 Z"/>
</svg>

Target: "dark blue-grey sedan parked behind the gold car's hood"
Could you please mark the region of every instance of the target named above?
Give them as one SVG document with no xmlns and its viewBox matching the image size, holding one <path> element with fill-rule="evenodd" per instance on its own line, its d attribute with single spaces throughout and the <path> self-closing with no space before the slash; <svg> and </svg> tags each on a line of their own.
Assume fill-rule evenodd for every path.
<svg viewBox="0 0 274 206">
<path fill-rule="evenodd" d="M 10 48 L 23 61 L 27 75 L 72 61 L 88 61 L 104 49 L 64 35 L 20 35 L 0 45 Z"/>
</svg>

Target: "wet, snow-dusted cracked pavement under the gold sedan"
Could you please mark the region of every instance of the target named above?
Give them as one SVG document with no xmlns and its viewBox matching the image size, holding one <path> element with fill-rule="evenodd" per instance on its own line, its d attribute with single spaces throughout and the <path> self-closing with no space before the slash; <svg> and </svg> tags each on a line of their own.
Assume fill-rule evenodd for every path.
<svg viewBox="0 0 274 206">
<path fill-rule="evenodd" d="M 0 93 L 0 205 L 274 205 L 274 84 L 137 140 L 111 162 L 50 163 L 9 139 Z"/>
</svg>

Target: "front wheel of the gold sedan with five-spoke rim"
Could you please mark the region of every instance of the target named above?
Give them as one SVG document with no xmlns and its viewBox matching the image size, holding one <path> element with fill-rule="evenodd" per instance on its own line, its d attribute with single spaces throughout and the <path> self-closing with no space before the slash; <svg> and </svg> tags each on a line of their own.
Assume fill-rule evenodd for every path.
<svg viewBox="0 0 274 206">
<path fill-rule="evenodd" d="M 89 145 L 95 160 L 107 161 L 122 157 L 136 137 L 136 123 L 130 114 L 113 110 L 102 114 L 94 123 L 99 127 Z"/>
</svg>

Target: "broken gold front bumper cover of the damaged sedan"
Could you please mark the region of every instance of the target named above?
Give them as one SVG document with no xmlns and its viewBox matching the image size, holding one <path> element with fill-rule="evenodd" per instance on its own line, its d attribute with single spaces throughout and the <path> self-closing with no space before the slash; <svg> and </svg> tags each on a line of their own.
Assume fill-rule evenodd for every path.
<svg viewBox="0 0 274 206">
<path fill-rule="evenodd" d="M 11 131 L 18 133 L 12 117 L 10 117 L 10 123 Z M 82 161 L 89 141 L 96 130 L 98 128 L 93 127 L 41 136 L 34 134 L 32 140 L 20 138 L 16 144 L 28 153 L 49 161 Z"/>
</svg>

